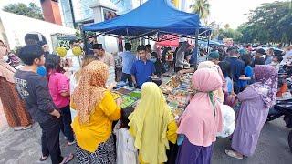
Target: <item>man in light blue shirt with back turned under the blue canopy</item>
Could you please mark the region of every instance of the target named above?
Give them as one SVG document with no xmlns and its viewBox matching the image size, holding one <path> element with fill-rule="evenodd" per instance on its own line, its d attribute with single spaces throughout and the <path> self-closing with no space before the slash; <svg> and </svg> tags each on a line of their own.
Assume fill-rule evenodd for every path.
<svg viewBox="0 0 292 164">
<path fill-rule="evenodd" d="M 132 80 L 130 75 L 130 69 L 136 61 L 136 56 L 130 52 L 131 45 L 130 43 L 125 44 L 126 51 L 121 53 L 119 56 L 122 58 L 122 76 L 121 81 L 129 83 L 129 86 L 132 86 Z"/>
</svg>

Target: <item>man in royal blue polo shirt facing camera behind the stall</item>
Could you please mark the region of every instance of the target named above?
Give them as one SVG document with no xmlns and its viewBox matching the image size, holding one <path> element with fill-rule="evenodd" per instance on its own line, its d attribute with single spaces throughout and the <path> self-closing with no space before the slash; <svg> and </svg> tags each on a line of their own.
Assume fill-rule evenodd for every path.
<svg viewBox="0 0 292 164">
<path fill-rule="evenodd" d="M 147 60 L 146 46 L 138 46 L 137 53 L 140 57 L 140 60 L 133 64 L 133 67 L 130 69 L 130 74 L 134 87 L 141 88 L 143 83 L 151 81 L 151 77 L 149 76 L 154 75 L 155 66 L 153 62 Z"/>
</svg>

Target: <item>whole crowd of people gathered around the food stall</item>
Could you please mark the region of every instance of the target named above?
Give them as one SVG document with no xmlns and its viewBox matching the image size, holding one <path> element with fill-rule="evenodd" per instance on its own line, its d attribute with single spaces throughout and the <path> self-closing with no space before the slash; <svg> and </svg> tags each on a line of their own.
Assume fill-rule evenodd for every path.
<svg viewBox="0 0 292 164">
<path fill-rule="evenodd" d="M 287 92 L 285 84 L 278 87 L 278 71 L 291 66 L 292 46 L 283 57 L 273 48 L 249 45 L 214 47 L 209 53 L 200 49 L 193 66 L 188 42 L 175 51 L 155 51 L 150 45 L 133 50 L 125 43 L 125 51 L 113 56 L 89 41 L 85 56 L 78 55 L 81 48 L 74 40 L 67 53 L 59 48 L 57 55 L 42 42 L 15 53 L 0 42 L 5 117 L 16 131 L 40 125 L 41 161 L 211 163 L 216 139 L 226 137 L 232 149 L 223 153 L 248 158 L 269 108 Z M 119 57 L 122 82 L 116 80 Z M 119 92 L 121 83 L 138 96 Z M 168 98 L 180 89 L 182 98 L 174 100 L 185 98 L 184 104 L 173 105 Z M 125 97 L 135 102 L 125 104 Z M 174 112 L 177 108 L 182 112 Z M 61 155 L 60 131 L 68 146 L 76 147 L 67 156 Z"/>
</svg>

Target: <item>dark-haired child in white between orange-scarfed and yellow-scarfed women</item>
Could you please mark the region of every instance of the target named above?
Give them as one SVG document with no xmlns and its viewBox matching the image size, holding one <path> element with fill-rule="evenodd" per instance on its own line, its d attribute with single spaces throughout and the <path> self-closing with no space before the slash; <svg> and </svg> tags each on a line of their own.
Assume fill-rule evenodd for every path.
<svg viewBox="0 0 292 164">
<path fill-rule="evenodd" d="M 134 138 L 129 133 L 128 117 L 134 108 L 123 108 L 120 121 L 116 124 L 114 134 L 117 136 L 117 164 L 138 163 L 138 151 L 134 147 Z"/>
</svg>

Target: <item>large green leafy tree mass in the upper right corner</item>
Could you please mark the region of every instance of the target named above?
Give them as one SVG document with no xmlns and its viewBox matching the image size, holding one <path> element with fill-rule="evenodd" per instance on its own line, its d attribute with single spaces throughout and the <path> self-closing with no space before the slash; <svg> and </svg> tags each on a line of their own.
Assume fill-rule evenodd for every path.
<svg viewBox="0 0 292 164">
<path fill-rule="evenodd" d="M 291 2 L 266 3 L 250 13 L 249 21 L 238 27 L 240 42 L 291 43 Z"/>
</svg>

